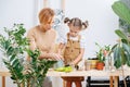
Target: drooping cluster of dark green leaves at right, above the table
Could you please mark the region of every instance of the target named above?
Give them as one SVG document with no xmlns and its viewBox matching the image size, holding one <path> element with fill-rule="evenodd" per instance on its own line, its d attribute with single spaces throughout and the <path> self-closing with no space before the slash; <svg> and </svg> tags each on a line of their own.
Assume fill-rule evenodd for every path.
<svg viewBox="0 0 130 87">
<path fill-rule="evenodd" d="M 127 64 L 130 66 L 130 45 L 120 41 L 119 44 L 116 44 L 112 48 L 112 52 L 114 57 L 114 65 L 119 69 L 121 65 Z"/>
</svg>

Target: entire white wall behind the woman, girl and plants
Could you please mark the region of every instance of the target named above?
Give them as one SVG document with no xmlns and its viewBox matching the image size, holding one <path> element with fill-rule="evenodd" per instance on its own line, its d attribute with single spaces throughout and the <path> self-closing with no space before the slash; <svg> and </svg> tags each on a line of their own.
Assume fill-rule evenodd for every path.
<svg viewBox="0 0 130 87">
<path fill-rule="evenodd" d="M 57 2 L 49 0 L 49 7 L 53 9 L 61 8 L 61 0 Z M 96 51 L 94 42 L 100 45 L 116 42 L 114 30 L 118 28 L 118 17 L 110 8 L 114 0 L 65 0 L 66 16 L 89 21 L 88 29 L 82 32 L 87 39 L 84 58 L 94 57 Z M 42 7 L 42 0 L 0 0 L 0 33 L 3 27 L 12 27 L 14 23 L 24 23 L 28 30 L 38 24 L 37 14 Z M 56 83 L 57 79 L 54 79 Z M 9 78 L 6 82 L 9 82 L 6 87 L 15 87 Z M 62 87 L 61 84 L 54 87 Z"/>
</svg>

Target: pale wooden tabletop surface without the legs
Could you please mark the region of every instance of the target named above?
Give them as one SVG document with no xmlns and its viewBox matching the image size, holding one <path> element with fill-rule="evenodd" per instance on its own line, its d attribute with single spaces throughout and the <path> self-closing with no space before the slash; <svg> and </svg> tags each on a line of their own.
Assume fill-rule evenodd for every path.
<svg viewBox="0 0 130 87">
<path fill-rule="evenodd" d="M 130 67 L 125 69 L 125 75 L 130 75 Z M 0 76 L 10 76 L 10 73 L 6 69 L 0 69 Z M 121 70 L 116 71 L 73 71 L 69 73 L 56 72 L 54 70 L 49 70 L 47 76 L 122 76 Z"/>
</svg>

